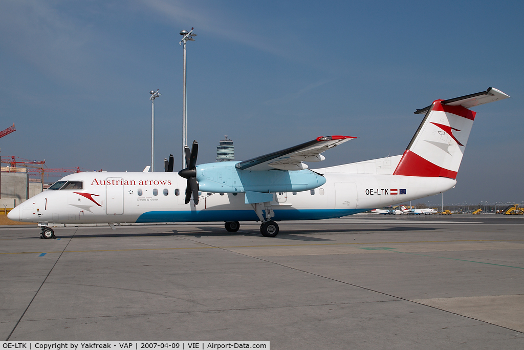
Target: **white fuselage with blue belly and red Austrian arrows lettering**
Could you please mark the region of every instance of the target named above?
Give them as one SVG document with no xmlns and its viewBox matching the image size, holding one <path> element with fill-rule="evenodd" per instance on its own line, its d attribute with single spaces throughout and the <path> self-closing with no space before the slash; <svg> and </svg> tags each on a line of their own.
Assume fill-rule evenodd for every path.
<svg viewBox="0 0 524 350">
<path fill-rule="evenodd" d="M 329 168 L 328 168 L 329 169 Z M 326 182 L 303 192 L 273 194 L 273 220 L 326 219 L 431 196 L 452 188 L 445 177 L 325 173 Z M 199 193 L 184 204 L 186 181 L 177 173 L 85 172 L 60 181 L 80 188 L 48 189 L 28 199 L 15 220 L 60 224 L 258 221 L 244 193 Z"/>
</svg>

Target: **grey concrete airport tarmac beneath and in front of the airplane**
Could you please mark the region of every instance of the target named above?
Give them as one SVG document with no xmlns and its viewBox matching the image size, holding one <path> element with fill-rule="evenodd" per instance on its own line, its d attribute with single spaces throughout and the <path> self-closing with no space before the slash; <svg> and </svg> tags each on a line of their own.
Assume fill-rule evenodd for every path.
<svg viewBox="0 0 524 350">
<path fill-rule="evenodd" d="M 524 217 L 0 228 L 2 340 L 524 348 Z"/>
</svg>

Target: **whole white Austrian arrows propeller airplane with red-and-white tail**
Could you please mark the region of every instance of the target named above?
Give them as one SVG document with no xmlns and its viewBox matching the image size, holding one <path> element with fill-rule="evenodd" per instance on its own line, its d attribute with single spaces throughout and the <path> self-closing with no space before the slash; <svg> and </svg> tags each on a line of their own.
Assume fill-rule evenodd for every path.
<svg viewBox="0 0 524 350">
<path fill-rule="evenodd" d="M 166 172 L 84 172 L 65 176 L 8 214 L 38 222 L 43 238 L 49 224 L 261 221 L 260 233 L 278 234 L 280 220 L 342 217 L 444 192 L 456 184 L 475 112 L 468 108 L 509 96 L 497 89 L 435 100 L 417 110 L 424 118 L 406 151 L 397 156 L 314 171 L 303 162 L 324 160 L 324 151 L 351 141 L 326 136 L 244 162 L 196 165 L 198 143 L 185 146 L 188 167 Z M 187 182 L 186 182 L 187 179 Z M 185 189 L 185 195 L 184 195 Z"/>
</svg>

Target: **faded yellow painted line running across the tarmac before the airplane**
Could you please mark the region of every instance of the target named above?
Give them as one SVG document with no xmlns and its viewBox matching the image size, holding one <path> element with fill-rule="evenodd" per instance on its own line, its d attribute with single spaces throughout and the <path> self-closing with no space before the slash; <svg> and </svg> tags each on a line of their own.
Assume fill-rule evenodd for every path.
<svg viewBox="0 0 524 350">
<path fill-rule="evenodd" d="M 72 237 L 71 237 L 72 238 Z M 187 237 L 181 237 L 188 239 Z M 190 240 L 191 242 L 206 245 L 203 242 Z M 255 246 L 209 246 L 206 247 L 185 247 L 185 248 L 137 248 L 137 249 L 100 249 L 100 250 L 68 250 L 68 251 L 46 251 L 46 253 L 84 253 L 84 252 L 103 252 L 103 251 L 147 251 L 147 250 L 184 250 L 184 249 L 232 249 L 232 248 L 266 248 L 266 247 L 307 247 L 307 246 L 354 246 L 354 245 L 385 245 L 385 244 L 404 244 L 404 243 L 453 243 L 453 242 L 513 242 L 524 241 L 524 239 L 470 239 L 470 240 L 443 240 L 443 241 L 406 241 L 406 242 L 363 242 L 363 243 L 303 243 L 293 245 L 255 245 Z M 69 242 L 68 242 L 69 244 Z M 66 246 L 67 247 L 67 246 Z M 44 251 L 20 251 L 0 253 L 0 255 L 8 254 L 37 254 Z"/>
</svg>

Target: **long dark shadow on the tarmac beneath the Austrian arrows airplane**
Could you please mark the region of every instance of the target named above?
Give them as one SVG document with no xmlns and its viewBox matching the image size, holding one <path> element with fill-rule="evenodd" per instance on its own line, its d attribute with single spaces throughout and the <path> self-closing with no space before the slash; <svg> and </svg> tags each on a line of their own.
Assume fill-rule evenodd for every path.
<svg viewBox="0 0 524 350">
<path fill-rule="evenodd" d="M 221 227 L 209 227 L 209 226 L 195 226 L 195 228 L 200 229 L 201 231 L 182 231 L 172 230 L 170 232 L 111 232 L 111 233 L 100 233 L 100 234 L 75 234 L 75 235 L 61 235 L 60 232 L 56 232 L 58 238 L 110 238 L 110 237 L 165 237 L 165 236 L 192 236 L 196 238 L 201 237 L 210 237 L 210 236 L 260 236 L 260 232 L 256 229 L 247 229 L 239 230 L 237 232 L 227 232 Z M 319 237 L 308 237 L 303 235 L 308 234 L 366 234 L 370 232 L 394 232 L 394 231 L 432 231 L 436 230 L 434 227 L 404 227 L 404 226 L 394 226 L 394 227 L 383 227 L 383 228 L 318 228 L 318 229 L 302 229 L 302 230 L 293 230 L 293 231 L 281 231 L 275 239 L 289 239 L 289 240 L 299 240 L 299 241 L 330 241 L 331 239 L 319 238 Z M 118 229 L 117 229 L 118 230 Z M 24 239 L 39 239 L 40 237 L 24 237 Z"/>
</svg>

